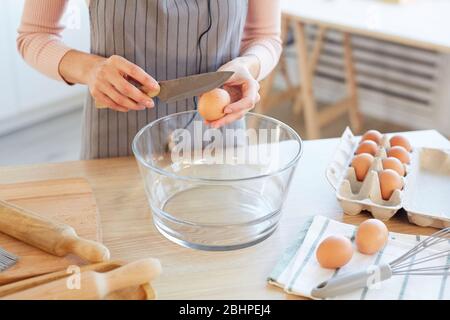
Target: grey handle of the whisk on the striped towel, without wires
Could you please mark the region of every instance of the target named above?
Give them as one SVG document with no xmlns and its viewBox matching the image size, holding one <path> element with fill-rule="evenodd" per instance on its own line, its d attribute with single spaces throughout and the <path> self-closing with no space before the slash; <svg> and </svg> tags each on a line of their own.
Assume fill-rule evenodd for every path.
<svg viewBox="0 0 450 320">
<path fill-rule="evenodd" d="M 362 288 L 375 286 L 392 276 L 388 264 L 371 265 L 366 270 L 343 274 L 320 283 L 311 291 L 314 298 L 326 299 L 352 292 Z"/>
</svg>

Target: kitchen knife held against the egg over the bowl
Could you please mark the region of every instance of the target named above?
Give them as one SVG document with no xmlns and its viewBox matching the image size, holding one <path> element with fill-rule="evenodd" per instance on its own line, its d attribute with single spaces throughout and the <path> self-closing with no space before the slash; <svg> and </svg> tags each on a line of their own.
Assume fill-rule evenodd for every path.
<svg viewBox="0 0 450 320">
<path fill-rule="evenodd" d="M 216 71 L 196 74 L 193 76 L 177 78 L 173 80 L 160 81 L 159 92 L 146 92 L 151 98 L 158 97 L 163 102 L 171 103 L 179 100 L 198 96 L 202 93 L 220 87 L 234 74 L 232 71 Z M 96 103 L 99 109 L 107 108 Z"/>
</svg>

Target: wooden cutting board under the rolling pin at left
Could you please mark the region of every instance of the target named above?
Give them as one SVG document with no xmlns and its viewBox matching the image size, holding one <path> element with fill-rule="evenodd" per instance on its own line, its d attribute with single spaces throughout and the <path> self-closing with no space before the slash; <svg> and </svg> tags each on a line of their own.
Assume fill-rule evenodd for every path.
<svg viewBox="0 0 450 320">
<path fill-rule="evenodd" d="M 80 237 L 101 242 L 100 218 L 86 179 L 58 179 L 0 184 L 0 199 L 72 226 Z M 0 247 L 19 257 L 0 272 L 0 285 L 63 270 L 86 262 L 75 256 L 56 257 L 0 233 Z"/>
</svg>

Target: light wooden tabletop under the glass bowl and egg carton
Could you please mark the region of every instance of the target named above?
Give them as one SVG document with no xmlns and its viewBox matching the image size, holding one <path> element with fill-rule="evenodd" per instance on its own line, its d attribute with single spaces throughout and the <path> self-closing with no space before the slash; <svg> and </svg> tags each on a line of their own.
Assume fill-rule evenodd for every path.
<svg viewBox="0 0 450 320">
<path fill-rule="evenodd" d="M 416 147 L 450 148 L 450 142 L 433 130 L 405 135 Z M 160 235 L 152 223 L 134 158 L 0 167 L 0 183 L 88 179 L 97 199 L 104 243 L 112 258 L 150 256 L 161 260 L 163 274 L 154 283 L 160 299 L 298 299 L 268 285 L 266 278 L 307 218 L 321 214 L 356 224 L 369 217 L 344 215 L 325 179 L 325 168 L 337 143 L 338 139 L 305 142 L 278 229 L 262 243 L 229 252 L 187 249 Z M 409 224 L 401 215 L 387 225 L 395 232 L 433 232 L 431 228 Z"/>
</svg>

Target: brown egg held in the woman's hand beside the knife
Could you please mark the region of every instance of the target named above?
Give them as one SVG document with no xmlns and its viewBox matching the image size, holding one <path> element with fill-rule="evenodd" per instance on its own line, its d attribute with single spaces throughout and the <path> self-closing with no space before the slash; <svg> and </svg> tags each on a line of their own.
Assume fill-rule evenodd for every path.
<svg viewBox="0 0 450 320">
<path fill-rule="evenodd" d="M 227 91 L 220 88 L 213 89 L 200 96 L 198 100 L 198 112 L 205 120 L 218 120 L 225 115 L 223 109 L 230 102 L 230 95 Z"/>
</svg>

